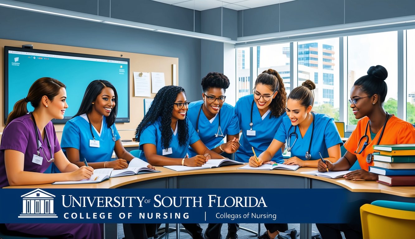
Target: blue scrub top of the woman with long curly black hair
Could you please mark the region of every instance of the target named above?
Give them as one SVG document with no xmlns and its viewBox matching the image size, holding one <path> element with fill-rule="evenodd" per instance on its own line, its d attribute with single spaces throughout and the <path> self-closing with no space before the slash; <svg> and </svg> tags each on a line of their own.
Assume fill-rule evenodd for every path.
<svg viewBox="0 0 415 239">
<path fill-rule="evenodd" d="M 153 124 L 143 129 L 140 135 L 139 149 L 142 150 L 140 153 L 140 159 L 147 161 L 146 156 L 144 154 L 144 148 L 143 148 L 144 144 L 154 144 L 156 146 L 158 155 L 166 156 L 169 158 L 184 158 L 187 154 L 189 145 L 194 144 L 196 141 L 200 139 L 187 117 L 185 118 L 185 120 L 186 120 L 186 124 L 188 127 L 188 132 L 189 132 L 188 140 L 185 145 L 179 145 L 179 139 L 178 139 L 179 132 L 177 132 L 176 135 L 173 134 L 171 137 L 171 143 L 168 146 L 168 148 L 171 148 L 172 150 L 171 154 L 163 155 L 163 150 L 165 149 L 162 149 L 161 147 L 162 143 L 161 143 L 161 119 L 160 118 L 156 120 L 156 122 L 154 122 Z"/>
</svg>

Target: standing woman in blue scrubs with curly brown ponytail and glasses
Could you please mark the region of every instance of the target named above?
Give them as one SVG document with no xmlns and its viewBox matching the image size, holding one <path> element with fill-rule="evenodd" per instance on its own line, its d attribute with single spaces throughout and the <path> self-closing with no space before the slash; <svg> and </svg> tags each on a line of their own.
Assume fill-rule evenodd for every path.
<svg viewBox="0 0 415 239">
<path fill-rule="evenodd" d="M 264 152 L 277 132 L 286 115 L 287 93 L 277 71 L 268 69 L 255 81 L 252 95 L 239 98 L 235 105 L 239 127 L 242 129 L 241 146 L 235 153 L 235 160 L 247 163 L 255 153 Z M 281 149 L 272 157 L 273 161 L 283 163 Z"/>
</svg>

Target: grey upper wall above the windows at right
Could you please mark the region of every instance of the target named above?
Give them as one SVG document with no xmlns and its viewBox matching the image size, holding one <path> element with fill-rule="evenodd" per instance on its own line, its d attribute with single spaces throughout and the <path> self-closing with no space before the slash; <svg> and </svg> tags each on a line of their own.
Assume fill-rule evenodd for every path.
<svg viewBox="0 0 415 239">
<path fill-rule="evenodd" d="M 415 15 L 414 0 L 295 0 L 238 11 L 238 37 Z"/>
</svg>

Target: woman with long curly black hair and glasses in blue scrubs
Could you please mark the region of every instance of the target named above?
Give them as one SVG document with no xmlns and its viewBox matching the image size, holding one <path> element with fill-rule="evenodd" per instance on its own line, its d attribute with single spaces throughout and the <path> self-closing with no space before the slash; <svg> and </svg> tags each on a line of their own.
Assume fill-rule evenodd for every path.
<svg viewBox="0 0 415 239">
<path fill-rule="evenodd" d="M 186 117 L 189 102 L 183 88 L 164 86 L 154 97 L 149 111 L 136 130 L 142 150 L 140 158 L 154 166 L 202 166 L 209 159 L 224 157 L 208 149 Z M 188 148 L 196 152 L 188 157 Z M 203 239 L 198 224 L 183 224 L 192 238 Z"/>
</svg>

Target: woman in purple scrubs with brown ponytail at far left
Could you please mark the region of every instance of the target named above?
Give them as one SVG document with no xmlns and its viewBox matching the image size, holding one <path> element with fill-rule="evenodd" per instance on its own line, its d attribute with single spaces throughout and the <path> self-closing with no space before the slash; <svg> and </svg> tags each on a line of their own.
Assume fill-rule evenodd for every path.
<svg viewBox="0 0 415 239">
<path fill-rule="evenodd" d="M 27 103 L 34 111 L 27 114 Z M 40 78 L 27 96 L 16 102 L 7 117 L 0 144 L 0 188 L 55 181 L 88 179 L 93 168 L 78 168 L 66 159 L 56 138 L 52 119 L 63 119 L 66 86 L 52 78 Z M 43 173 L 54 162 L 63 173 Z M 11 231 L 60 238 L 102 238 L 99 224 L 5 224 Z"/>
</svg>

